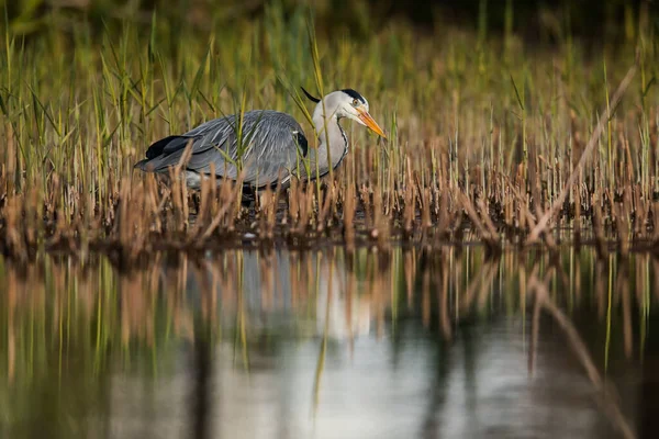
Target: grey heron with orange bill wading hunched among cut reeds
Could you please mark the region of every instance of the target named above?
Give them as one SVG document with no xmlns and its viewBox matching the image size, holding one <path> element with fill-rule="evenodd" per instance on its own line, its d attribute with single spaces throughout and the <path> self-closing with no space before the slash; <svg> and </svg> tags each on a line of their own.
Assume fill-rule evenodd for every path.
<svg viewBox="0 0 659 439">
<path fill-rule="evenodd" d="M 368 101 L 357 91 L 333 91 L 322 101 L 304 88 L 302 91 L 316 103 L 312 121 L 319 140 L 317 148 L 309 148 L 302 127 L 291 115 L 273 110 L 253 110 L 243 115 L 241 145 L 236 126 L 239 115 L 232 114 L 205 122 L 188 133 L 155 142 L 147 149 L 146 158 L 138 161 L 135 168 L 168 173 L 170 167 L 181 161 L 187 146 L 192 142 L 189 158 L 181 166 L 181 178 L 185 178 L 189 188 L 199 189 L 201 180 L 209 177 L 212 169 L 217 181 L 236 180 L 241 153 L 244 185 L 260 190 L 268 185 L 275 188 L 281 180 L 283 189 L 294 175 L 311 180 L 327 175 L 331 168 L 340 165 L 348 153 L 348 137 L 339 125 L 343 117 L 357 121 L 387 138 L 369 114 Z M 300 165 L 301 157 L 309 160 L 309 167 Z"/>
</svg>

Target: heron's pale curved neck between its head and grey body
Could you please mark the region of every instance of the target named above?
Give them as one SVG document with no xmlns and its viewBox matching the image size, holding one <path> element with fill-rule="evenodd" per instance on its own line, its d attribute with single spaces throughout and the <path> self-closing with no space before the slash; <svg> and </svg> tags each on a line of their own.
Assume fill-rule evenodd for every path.
<svg viewBox="0 0 659 439">
<path fill-rule="evenodd" d="M 319 148 L 311 148 L 310 151 L 311 173 L 316 173 L 317 162 L 319 176 L 324 176 L 330 168 L 336 168 L 345 157 L 348 138 L 338 125 L 336 116 L 323 117 L 322 114 L 314 114 L 313 124 L 319 137 Z"/>
</svg>

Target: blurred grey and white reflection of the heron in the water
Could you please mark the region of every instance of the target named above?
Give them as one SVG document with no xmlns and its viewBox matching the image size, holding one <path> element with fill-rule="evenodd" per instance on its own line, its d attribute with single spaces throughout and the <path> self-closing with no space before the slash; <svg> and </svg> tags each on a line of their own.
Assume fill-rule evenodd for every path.
<svg viewBox="0 0 659 439">
<path fill-rule="evenodd" d="M 344 340 L 368 335 L 377 314 L 373 306 L 386 306 L 371 294 L 360 294 L 361 284 L 345 263 L 321 252 L 297 259 L 287 250 L 236 251 L 226 258 L 222 263 L 209 262 L 211 271 L 188 271 L 189 297 L 211 289 L 223 314 L 235 315 L 242 307 L 254 330 L 290 325 L 293 314 L 305 331 Z"/>
</svg>

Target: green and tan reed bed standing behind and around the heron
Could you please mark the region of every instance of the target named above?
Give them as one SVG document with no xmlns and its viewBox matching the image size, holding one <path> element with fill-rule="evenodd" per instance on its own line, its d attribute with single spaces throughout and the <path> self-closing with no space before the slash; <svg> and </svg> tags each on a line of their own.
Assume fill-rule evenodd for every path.
<svg viewBox="0 0 659 439">
<path fill-rule="evenodd" d="M 487 18 L 478 32 L 434 33 L 361 18 L 369 36 L 357 37 L 315 30 L 308 12 L 272 2 L 257 18 L 210 12 L 176 32 L 157 11 L 99 27 L 63 26 L 54 10 L 29 36 L 5 25 L 0 251 L 20 261 L 102 251 L 132 267 L 156 250 L 275 243 L 657 248 L 647 7 L 630 10 L 624 40 L 594 48 L 562 16 L 543 45 L 489 34 Z M 191 192 L 133 170 L 150 143 L 212 117 L 269 108 L 305 122 L 298 86 L 357 89 L 389 139 L 346 125 L 350 153 L 330 178 L 252 206 L 239 181 Z"/>
</svg>

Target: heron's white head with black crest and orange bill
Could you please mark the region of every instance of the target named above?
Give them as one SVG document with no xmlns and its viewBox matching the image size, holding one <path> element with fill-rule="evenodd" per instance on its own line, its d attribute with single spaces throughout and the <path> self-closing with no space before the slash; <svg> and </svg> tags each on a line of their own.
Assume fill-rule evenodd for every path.
<svg viewBox="0 0 659 439">
<path fill-rule="evenodd" d="M 316 102 L 316 108 L 314 111 L 314 119 L 316 115 L 323 113 L 323 103 L 320 99 L 311 95 L 306 90 L 302 89 L 304 94 L 312 101 Z M 368 126 L 378 135 L 387 138 L 380 125 L 373 120 L 373 117 L 369 113 L 368 101 L 365 97 L 359 94 L 357 91 L 353 89 L 344 89 L 333 91 L 323 98 L 325 102 L 325 111 L 331 116 L 338 119 L 347 117 L 353 121 L 357 121 L 364 126 Z"/>
</svg>

